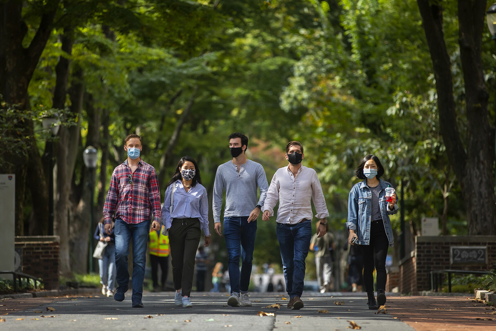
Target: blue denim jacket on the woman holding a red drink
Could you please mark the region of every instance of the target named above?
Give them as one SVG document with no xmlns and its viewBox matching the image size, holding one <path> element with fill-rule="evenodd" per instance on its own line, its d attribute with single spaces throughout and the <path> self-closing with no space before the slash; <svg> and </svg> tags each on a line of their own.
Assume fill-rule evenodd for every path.
<svg viewBox="0 0 496 331">
<path fill-rule="evenodd" d="M 388 186 L 393 186 L 380 178 L 379 185 L 382 188 L 379 192 L 380 213 L 382 215 L 382 220 L 384 221 L 384 229 L 386 230 L 389 247 L 393 247 L 393 231 L 389 215 L 397 213 L 399 207 L 398 204 L 395 203 L 393 210 L 389 210 L 389 202 L 385 199 L 386 193 L 384 189 Z M 398 196 L 396 196 L 396 202 L 397 201 Z M 363 182 L 355 184 L 350 191 L 350 197 L 348 198 L 348 221 L 346 222 L 346 228 L 352 229 L 357 234 L 357 243 L 359 245 L 369 245 L 372 217 L 371 210 L 372 193 L 367 187 L 367 180 L 364 180 Z"/>
</svg>

